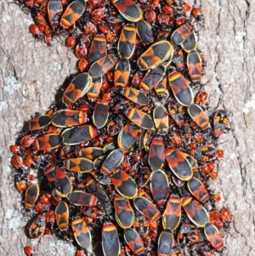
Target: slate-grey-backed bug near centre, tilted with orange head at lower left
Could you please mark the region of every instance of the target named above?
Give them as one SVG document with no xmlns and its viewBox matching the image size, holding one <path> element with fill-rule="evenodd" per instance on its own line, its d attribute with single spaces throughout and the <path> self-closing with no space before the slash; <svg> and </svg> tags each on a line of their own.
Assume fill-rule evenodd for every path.
<svg viewBox="0 0 255 256">
<path fill-rule="evenodd" d="M 111 151 L 102 164 L 100 171 L 105 175 L 110 175 L 123 162 L 124 151 L 117 149 Z"/>
</svg>

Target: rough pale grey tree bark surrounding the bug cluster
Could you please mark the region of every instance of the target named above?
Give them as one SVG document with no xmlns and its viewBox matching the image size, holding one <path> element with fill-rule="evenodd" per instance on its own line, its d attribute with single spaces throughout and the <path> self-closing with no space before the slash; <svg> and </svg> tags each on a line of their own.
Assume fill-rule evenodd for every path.
<svg viewBox="0 0 255 256">
<path fill-rule="evenodd" d="M 77 59 L 61 40 L 54 45 L 35 40 L 28 32 L 32 20 L 13 0 L 0 3 L 0 255 L 24 255 L 29 243 L 24 228 L 29 217 L 14 188 L 9 145 L 14 144 L 23 122 L 43 113 L 57 89 L 74 74 Z M 190 2 L 190 1 L 189 1 Z M 203 0 L 205 27 L 199 48 L 207 59 L 205 89 L 210 109 L 229 113 L 229 134 L 219 141 L 224 159 L 218 162 L 218 179 L 212 187 L 222 205 L 234 215 L 225 236 L 226 256 L 255 255 L 255 5 L 245 0 Z M 202 2 L 202 3 L 201 3 Z M 38 255 L 74 255 L 69 242 L 54 236 L 32 241 Z"/>
</svg>

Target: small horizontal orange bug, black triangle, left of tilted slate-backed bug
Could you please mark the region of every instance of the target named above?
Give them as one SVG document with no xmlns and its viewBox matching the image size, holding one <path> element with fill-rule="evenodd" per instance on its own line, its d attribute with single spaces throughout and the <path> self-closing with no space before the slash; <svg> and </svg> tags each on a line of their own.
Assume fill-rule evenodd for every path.
<svg viewBox="0 0 255 256">
<path fill-rule="evenodd" d="M 65 160 L 65 169 L 81 174 L 89 173 L 94 168 L 94 163 L 88 158 L 69 158 Z"/>
</svg>

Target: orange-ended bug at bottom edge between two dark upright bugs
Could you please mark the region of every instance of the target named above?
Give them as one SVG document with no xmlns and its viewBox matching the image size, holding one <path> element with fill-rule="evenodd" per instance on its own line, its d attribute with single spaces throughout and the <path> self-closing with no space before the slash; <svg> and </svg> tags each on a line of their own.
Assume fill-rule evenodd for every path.
<svg viewBox="0 0 255 256">
<path fill-rule="evenodd" d="M 133 251 L 133 253 L 135 253 L 135 255 L 144 253 L 144 242 L 136 230 L 130 228 L 125 229 L 124 239 L 127 242 L 128 247 L 130 247 L 130 249 Z"/>
</svg>

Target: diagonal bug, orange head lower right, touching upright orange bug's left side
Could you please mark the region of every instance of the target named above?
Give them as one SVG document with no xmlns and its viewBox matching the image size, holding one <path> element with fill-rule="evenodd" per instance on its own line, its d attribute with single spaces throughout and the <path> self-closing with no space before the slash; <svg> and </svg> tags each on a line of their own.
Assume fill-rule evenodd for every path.
<svg viewBox="0 0 255 256">
<path fill-rule="evenodd" d="M 150 202 L 143 196 L 133 198 L 133 205 L 146 218 L 156 220 L 161 217 L 161 212 L 156 208 L 154 203 Z"/>
</svg>

